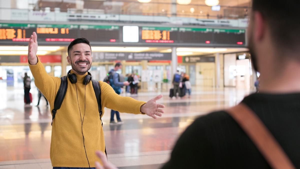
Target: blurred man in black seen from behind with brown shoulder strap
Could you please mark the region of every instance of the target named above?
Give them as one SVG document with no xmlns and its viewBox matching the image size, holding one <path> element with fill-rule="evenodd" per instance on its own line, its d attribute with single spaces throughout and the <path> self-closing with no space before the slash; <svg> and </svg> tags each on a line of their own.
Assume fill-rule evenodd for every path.
<svg viewBox="0 0 300 169">
<path fill-rule="evenodd" d="M 252 0 L 248 44 L 259 93 L 197 118 L 162 169 L 300 168 L 299 6 L 299 0 Z"/>
</svg>

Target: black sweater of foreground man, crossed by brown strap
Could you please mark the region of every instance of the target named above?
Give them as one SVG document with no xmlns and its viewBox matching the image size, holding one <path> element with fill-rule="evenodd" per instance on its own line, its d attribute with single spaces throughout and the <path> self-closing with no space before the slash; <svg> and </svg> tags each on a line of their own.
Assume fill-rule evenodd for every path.
<svg viewBox="0 0 300 169">
<path fill-rule="evenodd" d="M 300 93 L 252 94 L 242 101 L 271 131 L 300 168 Z M 170 161 L 174 168 L 270 168 L 259 150 L 226 112 L 197 118 L 177 141 Z"/>
</svg>

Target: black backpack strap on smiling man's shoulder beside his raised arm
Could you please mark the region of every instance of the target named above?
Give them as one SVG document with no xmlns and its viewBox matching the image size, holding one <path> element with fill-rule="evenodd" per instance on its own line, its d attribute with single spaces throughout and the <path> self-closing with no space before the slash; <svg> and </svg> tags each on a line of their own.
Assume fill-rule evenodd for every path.
<svg viewBox="0 0 300 169">
<path fill-rule="evenodd" d="M 60 78 L 60 86 L 54 100 L 54 109 L 52 109 L 52 122 L 53 119 L 55 118 L 56 111 L 60 108 L 61 103 L 64 100 L 64 96 L 66 95 L 67 88 L 68 88 L 67 76 L 63 76 Z"/>
</svg>

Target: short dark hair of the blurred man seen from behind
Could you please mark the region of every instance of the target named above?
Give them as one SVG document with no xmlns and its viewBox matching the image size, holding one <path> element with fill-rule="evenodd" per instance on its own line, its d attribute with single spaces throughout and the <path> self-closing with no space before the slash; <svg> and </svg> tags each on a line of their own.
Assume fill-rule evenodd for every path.
<svg viewBox="0 0 300 169">
<path fill-rule="evenodd" d="M 278 48 L 298 51 L 300 45 L 300 0 L 253 0 L 253 12 L 259 11 L 271 30 Z"/>
</svg>

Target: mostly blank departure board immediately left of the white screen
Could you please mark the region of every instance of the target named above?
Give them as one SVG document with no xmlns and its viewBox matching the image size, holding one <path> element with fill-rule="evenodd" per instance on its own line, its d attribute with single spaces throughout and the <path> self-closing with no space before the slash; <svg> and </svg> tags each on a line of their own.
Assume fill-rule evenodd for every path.
<svg viewBox="0 0 300 169">
<path fill-rule="evenodd" d="M 79 37 L 91 42 L 120 42 L 119 26 L 80 25 Z"/>
</svg>

